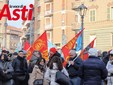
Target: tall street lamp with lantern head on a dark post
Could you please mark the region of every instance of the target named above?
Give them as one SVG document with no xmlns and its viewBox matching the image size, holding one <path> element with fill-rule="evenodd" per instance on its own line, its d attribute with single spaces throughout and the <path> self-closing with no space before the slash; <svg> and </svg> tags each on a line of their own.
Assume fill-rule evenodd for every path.
<svg viewBox="0 0 113 85">
<path fill-rule="evenodd" d="M 87 7 L 84 4 L 81 4 L 80 6 L 78 6 L 77 8 L 73 8 L 73 10 L 77 11 L 79 13 L 79 15 L 81 16 L 81 28 L 83 29 L 84 27 L 84 16 L 86 14 L 87 11 Z M 82 49 L 83 49 L 83 32 L 82 32 Z"/>
</svg>

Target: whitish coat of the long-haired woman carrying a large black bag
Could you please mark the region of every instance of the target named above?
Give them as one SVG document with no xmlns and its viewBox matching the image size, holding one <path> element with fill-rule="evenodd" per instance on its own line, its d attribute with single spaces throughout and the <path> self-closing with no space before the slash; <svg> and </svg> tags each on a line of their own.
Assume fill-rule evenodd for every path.
<svg viewBox="0 0 113 85">
<path fill-rule="evenodd" d="M 58 71 L 57 69 L 58 69 L 58 67 L 57 67 L 56 63 L 53 63 L 53 69 L 47 68 L 47 70 L 46 70 L 45 79 L 48 79 L 50 81 L 50 85 L 59 85 L 58 83 L 55 82 L 56 72 Z M 66 76 L 69 76 L 69 74 L 65 68 L 62 69 L 62 72 Z"/>
</svg>

